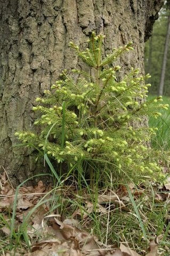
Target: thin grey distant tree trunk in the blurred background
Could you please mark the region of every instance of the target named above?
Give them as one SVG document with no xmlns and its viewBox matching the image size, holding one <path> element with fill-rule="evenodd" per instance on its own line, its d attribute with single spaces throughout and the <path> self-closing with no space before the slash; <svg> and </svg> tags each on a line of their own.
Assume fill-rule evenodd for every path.
<svg viewBox="0 0 170 256">
<path fill-rule="evenodd" d="M 167 33 L 166 33 L 166 39 L 165 39 L 165 47 L 164 47 L 163 63 L 162 63 L 162 67 L 161 67 L 158 95 L 163 95 L 163 92 L 164 92 L 164 82 L 165 82 L 166 61 L 167 61 L 168 46 L 169 46 L 169 36 L 170 36 L 170 14 L 168 16 Z"/>
</svg>

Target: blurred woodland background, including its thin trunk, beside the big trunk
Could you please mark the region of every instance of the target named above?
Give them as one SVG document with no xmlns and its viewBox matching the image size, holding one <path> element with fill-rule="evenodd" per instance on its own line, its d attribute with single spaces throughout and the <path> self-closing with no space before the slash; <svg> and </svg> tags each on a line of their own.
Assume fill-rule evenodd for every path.
<svg viewBox="0 0 170 256">
<path fill-rule="evenodd" d="M 170 35 L 170 3 L 166 1 L 159 19 L 153 26 L 153 33 L 145 44 L 145 71 L 151 74 L 152 87 L 150 93 L 169 94 L 169 35 Z"/>
</svg>

